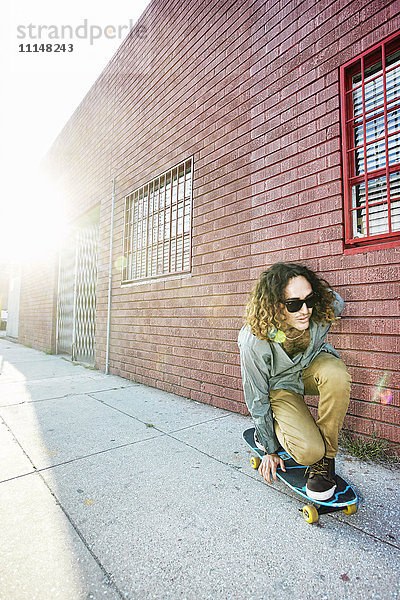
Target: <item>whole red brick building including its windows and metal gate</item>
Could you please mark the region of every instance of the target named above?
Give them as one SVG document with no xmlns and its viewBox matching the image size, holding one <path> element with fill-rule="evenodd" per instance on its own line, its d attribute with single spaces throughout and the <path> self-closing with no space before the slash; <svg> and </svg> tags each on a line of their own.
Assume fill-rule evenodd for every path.
<svg viewBox="0 0 400 600">
<path fill-rule="evenodd" d="M 246 412 L 248 293 L 303 262 L 346 302 L 345 426 L 399 448 L 399 106 L 397 0 L 153 0 L 46 158 L 73 232 L 20 340 Z"/>
</svg>

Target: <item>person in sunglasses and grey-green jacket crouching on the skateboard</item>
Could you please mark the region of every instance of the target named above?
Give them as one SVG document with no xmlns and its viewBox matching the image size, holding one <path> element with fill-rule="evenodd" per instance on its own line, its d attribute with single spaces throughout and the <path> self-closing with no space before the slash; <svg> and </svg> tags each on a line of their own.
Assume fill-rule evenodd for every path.
<svg viewBox="0 0 400 600">
<path fill-rule="evenodd" d="M 285 470 L 279 445 L 301 465 L 313 500 L 328 500 L 336 488 L 338 433 L 351 378 L 327 343 L 344 302 L 325 279 L 304 265 L 277 263 L 261 274 L 239 333 L 243 390 L 256 443 L 265 451 L 259 471 L 268 483 Z M 315 421 L 304 394 L 319 395 Z"/>
</svg>

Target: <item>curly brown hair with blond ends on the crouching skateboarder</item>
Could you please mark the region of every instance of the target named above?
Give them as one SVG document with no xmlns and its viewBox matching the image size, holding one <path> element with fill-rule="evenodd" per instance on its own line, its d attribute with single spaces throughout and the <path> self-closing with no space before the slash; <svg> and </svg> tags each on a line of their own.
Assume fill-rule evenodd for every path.
<svg viewBox="0 0 400 600">
<path fill-rule="evenodd" d="M 317 299 L 311 320 L 323 325 L 336 322 L 332 309 L 334 295 L 325 279 L 318 277 L 305 265 L 276 263 L 261 273 L 246 307 L 245 322 L 250 325 L 256 337 L 271 341 L 268 331 L 271 327 L 281 326 L 279 314 L 282 310 L 285 288 L 291 279 L 299 276 L 307 279 Z"/>
</svg>

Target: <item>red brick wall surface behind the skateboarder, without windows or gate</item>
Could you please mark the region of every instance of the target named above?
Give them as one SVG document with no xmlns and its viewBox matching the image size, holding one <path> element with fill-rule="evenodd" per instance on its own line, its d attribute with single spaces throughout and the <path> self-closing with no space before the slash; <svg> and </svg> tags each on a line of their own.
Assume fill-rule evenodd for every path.
<svg viewBox="0 0 400 600">
<path fill-rule="evenodd" d="M 331 335 L 346 426 L 399 444 L 399 248 L 343 253 L 338 69 L 400 29 L 395 0 L 154 0 L 49 156 L 71 217 L 101 203 L 96 356 L 105 365 L 111 177 L 124 197 L 194 156 L 190 276 L 121 286 L 110 370 L 245 412 L 237 333 L 253 281 L 302 261 L 346 301 Z M 393 391 L 377 397 L 378 382 Z"/>
</svg>

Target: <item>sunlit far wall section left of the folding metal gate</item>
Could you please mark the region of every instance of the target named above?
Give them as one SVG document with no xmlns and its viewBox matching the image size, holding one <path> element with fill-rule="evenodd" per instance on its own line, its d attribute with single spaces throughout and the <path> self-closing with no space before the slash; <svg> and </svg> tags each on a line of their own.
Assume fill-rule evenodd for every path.
<svg viewBox="0 0 400 600">
<path fill-rule="evenodd" d="M 56 259 L 25 264 L 21 274 L 18 342 L 55 352 L 57 312 Z"/>
</svg>

